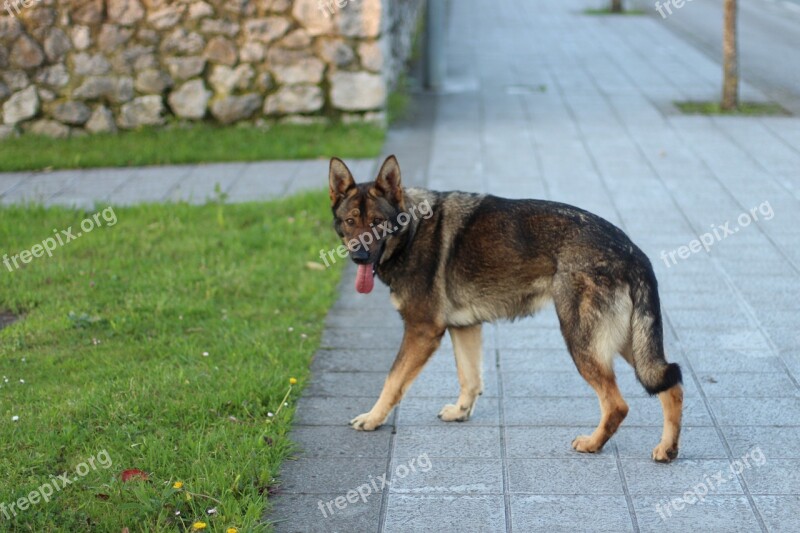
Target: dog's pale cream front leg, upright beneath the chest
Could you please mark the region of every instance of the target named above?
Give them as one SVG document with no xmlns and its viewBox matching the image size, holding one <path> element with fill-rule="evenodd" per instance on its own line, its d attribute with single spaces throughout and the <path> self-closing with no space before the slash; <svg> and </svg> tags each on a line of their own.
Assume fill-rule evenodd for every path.
<svg viewBox="0 0 800 533">
<path fill-rule="evenodd" d="M 445 422 L 464 422 L 472 416 L 475 402 L 483 393 L 483 350 L 481 348 L 481 324 L 468 327 L 451 327 L 453 352 L 456 356 L 458 382 L 461 393 L 455 405 L 445 405 L 439 418 Z"/>
</svg>

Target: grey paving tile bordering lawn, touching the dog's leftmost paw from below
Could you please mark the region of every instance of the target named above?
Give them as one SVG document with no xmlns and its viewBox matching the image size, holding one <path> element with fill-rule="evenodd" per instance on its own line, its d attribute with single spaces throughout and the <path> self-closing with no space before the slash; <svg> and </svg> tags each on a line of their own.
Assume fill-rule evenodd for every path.
<svg viewBox="0 0 800 533">
<path fill-rule="evenodd" d="M 353 428 L 297 426 L 291 439 L 298 446 L 300 457 L 389 457 L 391 433 L 388 431 L 355 431 Z"/>
</svg>

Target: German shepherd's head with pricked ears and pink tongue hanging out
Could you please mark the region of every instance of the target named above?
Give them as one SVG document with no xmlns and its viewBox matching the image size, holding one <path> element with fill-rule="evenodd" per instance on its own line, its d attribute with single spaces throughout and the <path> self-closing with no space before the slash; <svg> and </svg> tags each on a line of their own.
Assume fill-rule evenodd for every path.
<svg viewBox="0 0 800 533">
<path fill-rule="evenodd" d="M 334 157 L 328 181 L 333 227 L 358 265 L 356 290 L 368 293 L 374 286 L 375 265 L 399 229 L 397 216 L 405 209 L 400 165 L 389 156 L 375 181 L 356 184 L 344 161 Z"/>
</svg>

